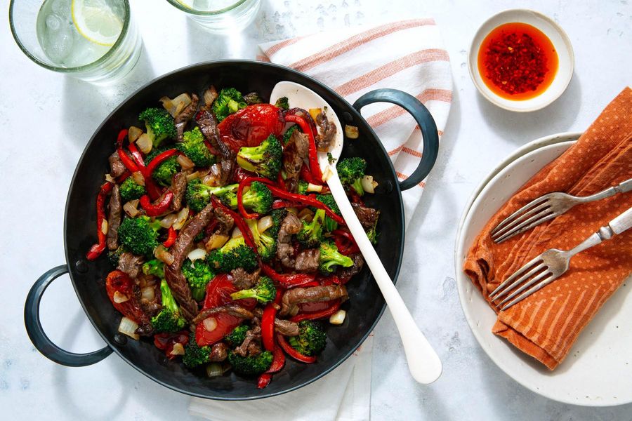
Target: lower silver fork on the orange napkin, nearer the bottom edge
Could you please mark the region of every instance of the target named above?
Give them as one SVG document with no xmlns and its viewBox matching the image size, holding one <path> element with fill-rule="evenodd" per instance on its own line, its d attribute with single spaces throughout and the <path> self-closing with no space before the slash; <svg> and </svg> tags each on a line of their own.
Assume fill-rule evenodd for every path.
<svg viewBox="0 0 632 421">
<path fill-rule="evenodd" d="M 568 270 L 569 262 L 574 255 L 581 253 L 586 248 L 596 246 L 604 240 L 610 240 L 615 234 L 621 234 L 630 227 L 632 227 L 632 207 L 571 250 L 549 248 L 527 262 L 493 290 L 489 294 L 489 300 L 494 302 L 503 298 L 496 307 L 504 305 L 501 310 L 508 309 L 562 276 Z M 516 295 L 518 296 L 516 297 Z"/>
</svg>

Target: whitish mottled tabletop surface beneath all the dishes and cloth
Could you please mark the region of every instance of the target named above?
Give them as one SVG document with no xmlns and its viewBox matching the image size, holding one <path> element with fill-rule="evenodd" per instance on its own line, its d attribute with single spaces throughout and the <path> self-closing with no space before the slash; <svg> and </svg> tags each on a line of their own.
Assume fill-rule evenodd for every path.
<svg viewBox="0 0 632 421">
<path fill-rule="evenodd" d="M 388 312 L 376 328 L 371 417 L 374 420 L 632 420 L 632 406 L 580 408 L 544 399 L 501 372 L 467 326 L 454 283 L 454 236 L 470 192 L 503 156 L 541 135 L 581 131 L 631 82 L 632 6 L 628 0 L 530 1 L 567 31 L 575 74 L 550 107 L 511 114 L 475 91 L 466 67 L 471 37 L 489 15 L 520 1 L 263 0 L 254 25 L 231 38 L 202 32 L 166 1 L 133 0 L 143 34 L 140 64 L 114 88 L 96 88 L 29 62 L 0 29 L 0 417 L 37 420 L 185 420 L 188 398 L 110 356 L 65 368 L 31 345 L 22 305 L 32 282 L 64 262 L 67 186 L 98 123 L 145 81 L 192 62 L 253 58 L 258 41 L 341 25 L 433 16 L 454 72 L 454 102 L 437 166 L 414 215 L 398 288 L 444 363 L 440 380 L 416 385 Z M 62 347 L 103 346 L 67 277 L 49 288 L 44 328 Z M 13 415 L 13 417 L 10 417 Z"/>
</svg>

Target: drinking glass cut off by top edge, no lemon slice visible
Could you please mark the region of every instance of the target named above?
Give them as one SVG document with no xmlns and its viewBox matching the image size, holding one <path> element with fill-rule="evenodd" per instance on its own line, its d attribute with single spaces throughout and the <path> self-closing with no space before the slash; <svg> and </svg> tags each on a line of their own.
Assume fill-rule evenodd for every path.
<svg viewBox="0 0 632 421">
<path fill-rule="evenodd" d="M 167 0 L 211 32 L 234 32 L 248 26 L 260 0 Z"/>
</svg>

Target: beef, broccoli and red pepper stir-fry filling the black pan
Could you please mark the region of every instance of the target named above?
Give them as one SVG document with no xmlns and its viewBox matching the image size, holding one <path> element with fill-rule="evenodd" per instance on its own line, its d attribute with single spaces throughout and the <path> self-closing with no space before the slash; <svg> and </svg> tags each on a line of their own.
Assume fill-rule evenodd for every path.
<svg viewBox="0 0 632 421">
<path fill-rule="evenodd" d="M 235 88 L 160 102 L 139 110 L 143 128 L 119 133 L 87 258 L 107 254 L 115 268 L 105 288 L 120 333 L 209 377 L 232 369 L 266 387 L 286 356 L 317 360 L 364 264 L 317 162 L 336 126 L 326 109 Z M 375 243 L 366 166 L 336 163 Z"/>
</svg>

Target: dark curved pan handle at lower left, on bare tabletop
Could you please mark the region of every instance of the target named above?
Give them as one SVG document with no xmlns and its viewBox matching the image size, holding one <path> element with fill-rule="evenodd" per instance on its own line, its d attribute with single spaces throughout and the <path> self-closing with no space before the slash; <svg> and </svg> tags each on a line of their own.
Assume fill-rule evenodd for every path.
<svg viewBox="0 0 632 421">
<path fill-rule="evenodd" d="M 46 358 L 55 361 L 55 363 L 62 366 L 69 367 L 83 367 L 90 366 L 91 364 L 98 363 L 106 356 L 112 354 L 112 348 L 104 347 L 95 352 L 88 352 L 87 354 L 74 354 L 74 352 L 67 352 L 48 339 L 44 329 L 41 327 L 41 321 L 39 320 L 39 303 L 41 297 L 44 295 L 46 288 L 57 279 L 59 276 L 68 273 L 66 265 L 53 267 L 48 272 L 35 281 L 27 300 L 24 305 L 24 324 L 29 334 L 29 338 L 33 345 L 37 348 L 42 355 Z"/>
</svg>

